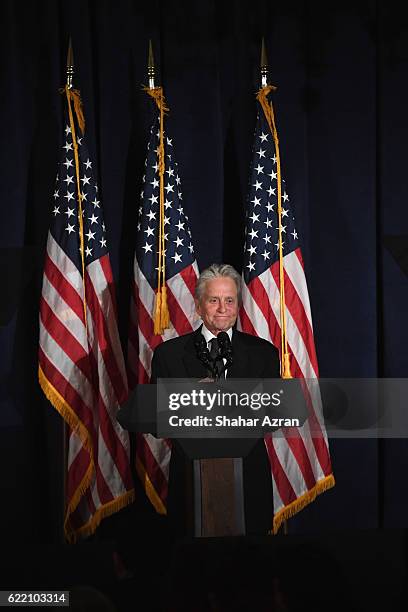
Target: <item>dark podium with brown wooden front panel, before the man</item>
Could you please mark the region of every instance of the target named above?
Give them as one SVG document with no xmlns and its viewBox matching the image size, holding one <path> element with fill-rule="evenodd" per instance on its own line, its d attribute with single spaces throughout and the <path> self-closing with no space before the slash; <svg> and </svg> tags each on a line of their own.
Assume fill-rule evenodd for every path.
<svg viewBox="0 0 408 612">
<path fill-rule="evenodd" d="M 117 420 L 128 431 L 156 435 L 156 385 L 139 385 Z M 190 535 L 245 535 L 242 460 L 256 438 L 172 438 L 172 442 L 190 466 L 183 483 Z"/>
</svg>

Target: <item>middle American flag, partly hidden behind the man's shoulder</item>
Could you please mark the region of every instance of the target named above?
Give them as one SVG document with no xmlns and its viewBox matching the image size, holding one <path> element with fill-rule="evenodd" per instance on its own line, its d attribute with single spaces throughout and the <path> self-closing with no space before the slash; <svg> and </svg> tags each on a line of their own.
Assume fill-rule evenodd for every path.
<svg viewBox="0 0 408 612">
<path fill-rule="evenodd" d="M 193 331 L 194 289 L 198 277 L 188 216 L 184 210 L 181 179 L 173 140 L 164 134 L 164 239 L 166 288 L 170 328 L 154 333 L 154 304 L 158 284 L 158 240 L 160 217 L 159 144 L 160 113 L 150 129 L 145 175 L 140 194 L 134 260 L 134 288 L 128 343 L 129 383 L 150 379 L 153 350 L 161 342 Z M 150 434 L 137 434 L 136 469 L 156 511 L 166 513 L 171 444 Z"/>
</svg>

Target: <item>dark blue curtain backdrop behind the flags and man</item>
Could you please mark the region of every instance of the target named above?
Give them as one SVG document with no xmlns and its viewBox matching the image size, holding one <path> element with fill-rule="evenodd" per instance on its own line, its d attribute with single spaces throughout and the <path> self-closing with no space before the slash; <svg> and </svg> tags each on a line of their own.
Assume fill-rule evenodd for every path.
<svg viewBox="0 0 408 612">
<path fill-rule="evenodd" d="M 1 505 L 2 525 L 22 537 L 52 540 L 60 530 L 62 433 L 37 384 L 36 354 L 68 33 L 124 346 L 151 116 L 141 91 L 148 40 L 171 109 L 199 266 L 224 260 L 240 268 L 264 35 L 321 375 L 407 374 L 408 280 L 383 239 L 408 234 L 408 18 L 395 0 L 281 4 L 2 3 Z M 407 447 L 333 440 L 337 486 L 290 530 L 407 527 Z"/>
</svg>

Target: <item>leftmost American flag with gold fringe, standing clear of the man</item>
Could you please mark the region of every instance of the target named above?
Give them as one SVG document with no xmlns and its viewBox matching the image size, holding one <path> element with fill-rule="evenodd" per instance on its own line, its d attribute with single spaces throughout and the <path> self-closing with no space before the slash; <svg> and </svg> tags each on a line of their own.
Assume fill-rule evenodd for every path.
<svg viewBox="0 0 408 612">
<path fill-rule="evenodd" d="M 67 95 L 79 100 L 79 92 Z M 134 491 L 128 433 L 115 416 L 128 389 L 102 202 L 68 101 L 65 111 L 40 303 L 39 380 L 68 426 L 65 533 L 75 541 Z"/>
</svg>

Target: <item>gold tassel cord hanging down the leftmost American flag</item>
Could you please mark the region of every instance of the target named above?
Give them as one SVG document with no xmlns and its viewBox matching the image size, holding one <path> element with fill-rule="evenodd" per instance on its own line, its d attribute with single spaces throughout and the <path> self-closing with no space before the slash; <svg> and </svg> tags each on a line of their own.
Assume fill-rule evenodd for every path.
<svg viewBox="0 0 408 612">
<path fill-rule="evenodd" d="M 86 293 L 85 293 L 85 249 L 84 249 L 84 221 L 82 215 L 82 191 L 81 191 L 81 183 L 79 177 L 79 154 L 78 154 L 78 142 L 76 139 L 76 131 L 75 131 L 75 122 L 74 116 L 72 113 L 71 102 L 74 105 L 74 111 L 76 114 L 76 118 L 78 121 L 79 129 L 82 134 L 85 130 L 85 119 L 84 114 L 82 112 L 82 102 L 81 95 L 77 89 L 69 89 L 68 85 L 65 86 L 65 94 L 67 96 L 67 105 L 68 105 L 68 114 L 69 114 L 69 124 L 71 128 L 71 136 L 72 136 L 72 144 L 74 147 L 74 159 L 75 159 L 75 178 L 77 185 L 77 194 L 78 194 L 78 223 L 79 223 L 79 250 L 81 253 L 81 263 L 82 263 L 82 285 L 83 285 L 83 306 L 84 306 L 84 323 L 85 328 L 87 327 L 86 321 Z"/>
</svg>

